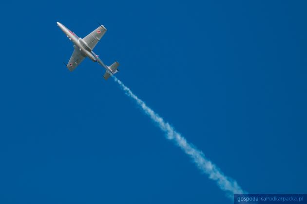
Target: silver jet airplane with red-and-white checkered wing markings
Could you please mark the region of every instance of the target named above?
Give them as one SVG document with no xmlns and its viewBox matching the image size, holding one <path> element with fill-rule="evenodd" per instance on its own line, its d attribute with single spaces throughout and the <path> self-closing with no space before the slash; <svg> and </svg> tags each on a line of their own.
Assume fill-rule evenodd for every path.
<svg viewBox="0 0 307 204">
<path fill-rule="evenodd" d="M 86 57 L 90 58 L 93 62 L 98 62 L 99 65 L 106 69 L 106 72 L 103 75 L 103 78 L 105 80 L 107 80 L 110 76 L 119 71 L 117 69 L 117 67 L 119 66 L 119 63 L 117 61 L 115 61 L 115 63 L 113 63 L 111 66 L 106 66 L 100 60 L 99 56 L 93 52 L 94 47 L 107 31 L 107 29 L 103 25 L 100 25 L 98 28 L 96 28 L 95 31 L 86 35 L 82 39 L 81 37 L 78 37 L 74 32 L 66 28 L 60 22 L 57 22 L 57 24 L 58 27 L 64 32 L 64 34 L 67 35 L 68 39 L 74 44 L 75 50 L 70 57 L 68 65 L 64 63 L 70 71 L 73 71 L 75 68 L 77 68 L 77 66 Z"/>
</svg>

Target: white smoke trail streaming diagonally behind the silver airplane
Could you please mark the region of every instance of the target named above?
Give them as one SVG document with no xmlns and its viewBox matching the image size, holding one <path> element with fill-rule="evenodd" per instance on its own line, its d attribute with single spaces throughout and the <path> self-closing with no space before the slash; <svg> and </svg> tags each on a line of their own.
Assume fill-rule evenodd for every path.
<svg viewBox="0 0 307 204">
<path fill-rule="evenodd" d="M 191 143 L 177 133 L 174 128 L 165 122 L 158 114 L 156 114 L 150 107 L 148 107 L 145 102 L 140 100 L 137 96 L 132 93 L 130 88 L 125 86 L 120 80 L 115 76 L 113 77 L 115 82 L 117 82 L 120 87 L 125 91 L 125 93 L 134 99 L 134 101 L 142 108 L 142 110 L 159 126 L 159 128 L 165 132 L 166 137 L 173 140 L 176 145 L 178 145 L 186 154 L 190 155 L 193 162 L 197 167 L 204 173 L 209 175 L 209 178 L 217 183 L 217 186 L 221 190 L 226 191 L 230 199 L 233 199 L 234 193 L 246 193 L 237 184 L 236 181 L 224 175 L 218 167 L 216 167 L 212 162 L 207 159 L 200 150 L 197 150 Z"/>
</svg>

